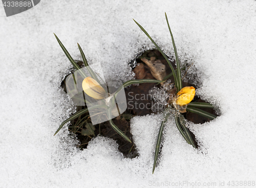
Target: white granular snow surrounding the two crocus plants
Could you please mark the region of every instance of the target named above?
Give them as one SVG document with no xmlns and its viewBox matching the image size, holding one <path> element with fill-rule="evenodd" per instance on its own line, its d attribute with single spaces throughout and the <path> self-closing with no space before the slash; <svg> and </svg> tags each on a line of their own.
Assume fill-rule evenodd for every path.
<svg viewBox="0 0 256 188">
<path fill-rule="evenodd" d="M 6 17 L 0 6 L 0 187 L 181 187 L 183 181 L 183 187 L 221 187 L 223 181 L 227 187 L 228 181 L 255 181 L 255 10 L 252 0 L 45 0 Z M 173 54 L 164 12 L 181 61 L 198 69 L 197 93 L 221 111 L 210 123 L 189 124 L 202 149 L 186 144 L 170 117 L 152 175 L 161 114 L 132 120 L 140 154 L 134 159 L 124 158 L 111 138 L 98 136 L 80 151 L 67 127 L 53 136 L 75 109 L 60 88 L 71 64 L 53 32 L 74 59 L 81 59 L 78 42 L 89 64 L 101 63 L 106 80 L 126 81 L 132 78 L 127 63 L 153 48 L 132 18 Z"/>
</svg>

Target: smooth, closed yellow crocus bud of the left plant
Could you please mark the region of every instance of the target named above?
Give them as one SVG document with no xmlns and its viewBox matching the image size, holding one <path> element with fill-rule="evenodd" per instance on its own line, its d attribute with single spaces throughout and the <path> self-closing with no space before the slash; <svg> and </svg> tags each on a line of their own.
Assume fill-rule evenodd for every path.
<svg viewBox="0 0 256 188">
<path fill-rule="evenodd" d="M 106 96 L 103 87 L 91 77 L 84 78 L 82 81 L 82 89 L 88 96 L 97 100 L 104 99 Z"/>
</svg>

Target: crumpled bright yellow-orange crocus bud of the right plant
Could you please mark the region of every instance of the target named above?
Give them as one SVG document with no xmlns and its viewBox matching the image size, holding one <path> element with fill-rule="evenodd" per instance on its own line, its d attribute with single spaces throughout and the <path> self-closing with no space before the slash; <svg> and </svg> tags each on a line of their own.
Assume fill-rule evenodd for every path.
<svg viewBox="0 0 256 188">
<path fill-rule="evenodd" d="M 175 103 L 177 105 L 186 105 L 195 97 L 196 89 L 193 86 L 183 87 L 176 95 Z"/>
</svg>

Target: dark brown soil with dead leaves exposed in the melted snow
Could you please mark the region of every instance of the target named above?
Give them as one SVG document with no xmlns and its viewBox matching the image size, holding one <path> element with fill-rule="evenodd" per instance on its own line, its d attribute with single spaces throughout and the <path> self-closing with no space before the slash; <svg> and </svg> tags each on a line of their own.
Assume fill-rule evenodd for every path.
<svg viewBox="0 0 256 188">
<path fill-rule="evenodd" d="M 158 50 L 155 50 L 155 49 L 147 50 L 143 52 L 138 58 L 133 60 L 133 62 L 137 63 L 136 66 L 135 64 L 133 66 L 133 72 L 135 73 L 136 79 L 155 79 L 153 76 L 154 72 L 152 72 L 152 67 L 149 67 L 147 65 L 148 64 L 147 62 L 145 63 L 145 61 L 147 60 L 149 61 L 153 59 L 154 59 L 153 63 L 157 62 L 161 64 L 157 66 L 163 67 L 163 65 L 165 65 L 166 75 L 172 73 L 172 70 L 170 69 L 167 61 L 164 59 L 164 57 Z M 174 57 L 170 57 L 170 59 L 173 59 L 171 63 L 176 69 Z M 82 61 L 77 61 L 77 64 L 80 67 L 83 66 Z M 152 66 L 155 66 L 155 63 L 152 64 Z M 181 68 L 187 71 L 189 67 L 181 67 Z M 65 79 L 62 81 L 61 87 L 64 89 L 65 92 L 67 92 Z M 174 80 L 174 77 L 172 76 L 169 79 Z M 183 84 L 183 87 L 194 86 L 195 88 L 197 88 L 195 85 L 189 84 L 187 82 L 182 82 L 182 84 Z M 101 135 L 101 136 L 110 137 L 116 140 L 116 142 L 119 145 L 119 148 L 118 148 L 119 151 L 122 152 L 125 157 L 134 158 L 138 156 L 138 152 L 136 150 L 136 146 L 133 142 L 133 137 L 130 132 L 130 120 L 135 115 L 146 115 L 151 113 L 157 113 L 152 111 L 152 106 L 154 105 L 154 99 L 152 99 L 152 96 L 149 94 L 149 91 L 154 86 L 159 88 L 161 87 L 160 84 L 156 85 L 155 83 L 142 83 L 139 85 L 131 85 L 130 87 L 126 87 L 124 89 L 125 95 L 126 95 L 127 109 L 121 115 L 115 117 L 113 119 L 113 122 L 121 131 L 123 131 L 126 134 L 127 137 L 131 139 L 132 143 L 127 142 L 123 137 L 121 137 L 118 133 L 116 133 L 108 121 L 93 126 L 90 121 L 89 113 L 84 113 L 83 115 L 77 117 L 75 120 L 71 121 L 71 124 L 69 125 L 69 130 L 72 133 L 76 134 L 78 140 L 80 141 L 80 145 L 78 147 L 80 149 L 87 148 L 88 143 L 93 137 L 95 137 L 96 135 Z M 201 100 L 199 96 L 195 96 L 193 102 L 205 102 L 205 101 Z M 87 107 L 77 106 L 77 111 L 82 110 L 84 108 L 87 108 Z M 201 109 L 217 116 L 214 109 L 209 109 L 209 108 L 201 108 Z M 199 116 L 195 113 L 186 112 L 186 113 L 183 113 L 183 115 L 188 121 L 194 122 L 196 124 L 199 124 L 199 123 L 203 124 L 205 122 L 210 121 L 206 117 Z M 190 133 L 194 138 L 194 142 L 197 146 L 195 135 L 192 132 Z"/>
</svg>

